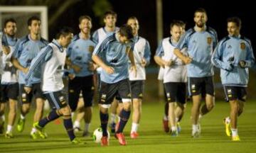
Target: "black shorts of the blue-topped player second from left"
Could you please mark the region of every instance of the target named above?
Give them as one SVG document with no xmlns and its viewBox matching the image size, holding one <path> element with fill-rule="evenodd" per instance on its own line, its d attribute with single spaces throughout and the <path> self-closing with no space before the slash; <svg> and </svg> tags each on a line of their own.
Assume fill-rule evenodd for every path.
<svg viewBox="0 0 256 153">
<path fill-rule="evenodd" d="M 31 103 L 32 98 L 43 98 L 46 99 L 45 96 L 43 96 L 43 91 L 41 89 L 41 83 L 32 84 L 31 92 L 29 94 L 26 93 L 24 89 L 25 84 L 19 84 L 19 95 L 21 99 L 21 103 Z"/>
</svg>

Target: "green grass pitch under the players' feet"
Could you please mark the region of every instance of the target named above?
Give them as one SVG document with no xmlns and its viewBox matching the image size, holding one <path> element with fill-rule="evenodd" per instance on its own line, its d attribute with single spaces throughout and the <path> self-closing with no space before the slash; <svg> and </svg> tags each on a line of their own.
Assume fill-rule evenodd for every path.
<svg viewBox="0 0 256 153">
<path fill-rule="evenodd" d="M 229 113 L 229 104 L 217 102 L 213 111 L 205 115 L 201 120 L 202 133 L 198 139 L 191 138 L 191 102 L 188 102 L 186 113 L 181 121 L 181 134 L 171 137 L 163 131 L 161 119 L 164 112 L 164 103 L 144 103 L 142 106 L 142 120 L 139 126 L 139 138 L 131 140 L 129 130 L 131 118 L 124 129 L 127 146 L 120 146 L 113 136 L 110 138 L 109 147 L 101 147 L 92 141 L 92 137 L 81 137 L 82 132 L 76 133 L 85 145 L 71 145 L 63 128 L 63 123 L 46 125 L 48 138 L 46 140 L 31 140 L 29 133 L 32 126 L 32 112 L 26 120 L 25 130 L 22 133 L 14 129 L 14 138 L 6 139 L 0 135 L 0 152 L 43 152 L 43 153 L 73 153 L 73 152 L 172 152 L 172 153 L 249 153 L 256 152 L 256 102 L 247 101 L 245 111 L 238 119 L 238 132 L 241 142 L 231 142 L 225 135 L 223 118 Z M 82 123 L 83 125 L 83 123 Z M 90 132 L 100 125 L 97 106 L 93 110 L 92 125 Z"/>
</svg>

